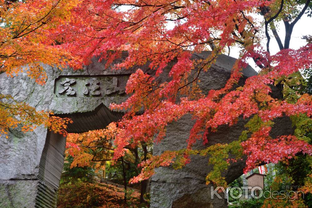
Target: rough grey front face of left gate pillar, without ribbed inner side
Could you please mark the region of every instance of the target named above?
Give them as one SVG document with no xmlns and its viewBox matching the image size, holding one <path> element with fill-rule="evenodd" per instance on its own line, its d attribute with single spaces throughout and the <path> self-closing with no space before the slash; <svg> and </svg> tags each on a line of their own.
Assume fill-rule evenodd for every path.
<svg viewBox="0 0 312 208">
<path fill-rule="evenodd" d="M 14 129 L 0 139 L 0 206 L 35 207 L 41 152 L 46 129 Z"/>
</svg>

